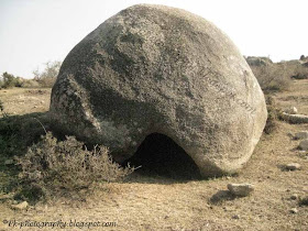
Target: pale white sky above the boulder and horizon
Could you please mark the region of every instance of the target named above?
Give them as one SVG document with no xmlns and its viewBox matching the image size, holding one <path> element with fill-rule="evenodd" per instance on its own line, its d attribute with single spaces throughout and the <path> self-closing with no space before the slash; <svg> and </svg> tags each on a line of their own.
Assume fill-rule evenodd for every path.
<svg viewBox="0 0 308 231">
<path fill-rule="evenodd" d="M 246 56 L 308 56 L 307 0 L 0 0 L 0 75 L 32 78 L 35 68 L 63 61 L 100 23 L 136 3 L 201 15 Z"/>
</svg>

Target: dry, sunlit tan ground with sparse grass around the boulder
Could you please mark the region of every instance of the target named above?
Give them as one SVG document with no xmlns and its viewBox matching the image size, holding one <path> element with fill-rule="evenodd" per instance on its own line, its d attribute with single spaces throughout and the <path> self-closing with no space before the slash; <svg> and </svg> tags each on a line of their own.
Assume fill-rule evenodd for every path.
<svg viewBox="0 0 308 231">
<path fill-rule="evenodd" d="M 0 90 L 0 98 L 8 113 L 24 114 L 46 111 L 50 94 L 51 89 L 12 89 Z M 274 98 L 282 108 L 295 106 L 308 114 L 308 80 L 293 81 L 290 90 Z M 21 210 L 11 208 L 10 195 L 1 195 L 0 230 L 13 229 L 4 220 L 25 222 L 23 226 L 31 224 L 26 221 L 75 224 L 42 230 L 79 230 L 75 220 L 117 223 L 106 230 L 308 230 L 308 207 L 299 205 L 299 198 L 308 196 L 308 153 L 297 150 L 299 141 L 290 136 L 304 130 L 308 124 L 278 122 L 274 133 L 262 136 L 238 176 L 175 180 L 135 172 L 124 183 L 98 186 L 85 199 L 64 196 Z M 289 163 L 300 164 L 300 169 L 287 170 Z M 254 191 L 234 197 L 227 188 L 230 183 L 252 184 Z"/>
</svg>

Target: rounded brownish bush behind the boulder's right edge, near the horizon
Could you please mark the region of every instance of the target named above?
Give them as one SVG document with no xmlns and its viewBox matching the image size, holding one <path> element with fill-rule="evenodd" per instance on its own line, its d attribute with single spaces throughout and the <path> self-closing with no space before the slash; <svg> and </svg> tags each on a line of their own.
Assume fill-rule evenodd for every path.
<svg viewBox="0 0 308 231">
<path fill-rule="evenodd" d="M 279 91 L 289 88 L 292 70 L 285 64 L 251 66 L 261 88 L 266 91 Z"/>
</svg>

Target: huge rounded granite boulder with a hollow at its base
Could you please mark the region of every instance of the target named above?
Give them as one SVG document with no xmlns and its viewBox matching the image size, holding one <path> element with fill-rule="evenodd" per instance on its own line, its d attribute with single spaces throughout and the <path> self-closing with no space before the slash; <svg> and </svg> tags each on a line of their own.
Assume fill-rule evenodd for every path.
<svg viewBox="0 0 308 231">
<path fill-rule="evenodd" d="M 152 133 L 173 139 L 204 176 L 250 158 L 267 118 L 263 92 L 230 38 L 184 10 L 139 4 L 100 24 L 64 61 L 54 127 L 131 157 Z"/>
</svg>

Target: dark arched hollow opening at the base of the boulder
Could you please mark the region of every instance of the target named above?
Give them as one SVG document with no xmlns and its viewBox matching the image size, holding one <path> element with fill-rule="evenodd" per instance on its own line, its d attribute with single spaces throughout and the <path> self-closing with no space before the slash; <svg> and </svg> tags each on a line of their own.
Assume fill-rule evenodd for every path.
<svg viewBox="0 0 308 231">
<path fill-rule="evenodd" d="M 198 166 L 193 158 L 170 138 L 152 133 L 141 143 L 135 154 L 124 164 L 138 167 L 135 170 L 145 176 L 173 179 L 200 179 Z"/>
</svg>

